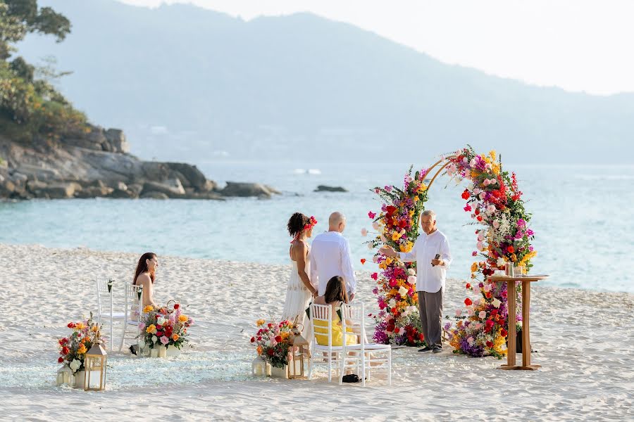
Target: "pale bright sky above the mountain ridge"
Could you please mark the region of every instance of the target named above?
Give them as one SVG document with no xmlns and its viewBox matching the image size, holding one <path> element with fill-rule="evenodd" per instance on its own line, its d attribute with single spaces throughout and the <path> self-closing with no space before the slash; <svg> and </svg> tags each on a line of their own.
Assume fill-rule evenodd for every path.
<svg viewBox="0 0 634 422">
<path fill-rule="evenodd" d="M 634 0 L 119 0 L 192 3 L 251 19 L 310 11 L 445 63 L 530 84 L 634 91 Z"/>
</svg>

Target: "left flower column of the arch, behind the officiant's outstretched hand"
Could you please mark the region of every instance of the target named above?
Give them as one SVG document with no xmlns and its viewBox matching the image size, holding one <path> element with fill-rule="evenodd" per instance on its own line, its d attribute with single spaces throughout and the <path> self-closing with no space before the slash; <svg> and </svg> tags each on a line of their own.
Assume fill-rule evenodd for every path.
<svg viewBox="0 0 634 422">
<path fill-rule="evenodd" d="M 402 188 L 376 187 L 374 193 L 383 201 L 381 211 L 368 212 L 377 236 L 368 242 L 368 248 L 380 248 L 386 244 L 394 250 L 409 252 L 418 237 L 418 217 L 427 200 L 427 172 L 414 175 L 412 168 L 405 174 Z M 365 231 L 367 233 L 367 231 Z M 380 273 L 372 274 L 377 283 L 373 293 L 377 296 L 380 311 L 373 315 L 376 323 L 374 340 L 394 345 L 423 345 L 421 321 L 418 316 L 416 293 L 416 263 L 404 263 L 376 253 L 373 262 L 378 263 Z"/>
</svg>

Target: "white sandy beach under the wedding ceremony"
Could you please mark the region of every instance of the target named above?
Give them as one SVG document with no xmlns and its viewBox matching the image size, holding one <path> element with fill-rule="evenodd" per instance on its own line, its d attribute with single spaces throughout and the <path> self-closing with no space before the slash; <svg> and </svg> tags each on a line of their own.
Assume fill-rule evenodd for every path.
<svg viewBox="0 0 634 422">
<path fill-rule="evenodd" d="M 213 248 L 213 245 L 210 245 Z M 500 371 L 492 357 L 394 350 L 361 385 L 251 378 L 254 321 L 282 310 L 290 266 L 159 257 L 156 298 L 176 298 L 197 325 L 193 350 L 169 359 L 109 356 L 108 391 L 54 387 L 56 338 L 96 308 L 90 279 L 131 281 L 137 255 L 0 245 L 0 420 L 554 420 L 634 419 L 634 295 L 533 289 L 533 363 Z M 375 311 L 369 274 L 359 299 Z M 449 281 L 445 314 L 464 300 Z M 123 297 L 123 293 L 119 293 Z M 106 330 L 107 331 L 107 330 Z M 518 355 L 520 358 L 520 355 Z"/>
</svg>

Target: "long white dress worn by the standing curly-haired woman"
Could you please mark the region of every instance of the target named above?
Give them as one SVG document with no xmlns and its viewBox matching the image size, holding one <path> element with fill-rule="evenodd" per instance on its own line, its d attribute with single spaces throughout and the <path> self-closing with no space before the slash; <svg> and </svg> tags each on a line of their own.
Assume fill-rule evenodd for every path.
<svg viewBox="0 0 634 422">
<path fill-rule="evenodd" d="M 306 274 L 311 274 L 310 255 L 311 250 L 309 247 L 308 255 L 306 255 L 306 267 L 304 268 Z M 309 307 L 312 295 L 310 290 L 304 286 L 302 279 L 299 278 L 297 262 L 293 260 L 291 260 L 291 262 L 291 274 L 286 290 L 286 302 L 284 302 L 284 310 L 282 311 L 282 321 L 288 319 L 293 322 L 297 319 L 297 323 L 302 324 L 300 326 L 302 327 L 302 336 L 310 342 L 313 330 L 310 320 L 306 316 L 306 308 Z"/>
</svg>

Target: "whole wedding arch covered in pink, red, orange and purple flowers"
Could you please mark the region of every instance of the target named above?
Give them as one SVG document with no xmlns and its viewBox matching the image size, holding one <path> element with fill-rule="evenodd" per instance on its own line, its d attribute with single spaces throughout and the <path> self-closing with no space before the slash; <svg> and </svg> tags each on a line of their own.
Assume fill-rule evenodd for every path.
<svg viewBox="0 0 634 422">
<path fill-rule="evenodd" d="M 530 243 L 534 238 L 533 231 L 528 229 L 530 214 L 524 208 L 515 173 L 502 170 L 502 161 L 495 151 L 487 155 L 476 154 L 471 146 L 441 158 L 428 169 L 415 174 L 412 169 L 410 167 L 405 175 L 402 187 L 373 189 L 383 205 L 378 213 L 368 212 L 377 232 L 377 236 L 368 242 L 368 248 L 387 244 L 395 250 L 409 252 L 418 237 L 418 217 L 425 209 L 429 188 L 435 179 L 445 174 L 459 183 L 469 181 L 461 197 L 466 201 L 464 211 L 469 213 L 472 224 L 478 225 L 478 229 L 475 230 L 477 243 L 472 252 L 471 280 L 465 287 L 467 293 L 478 293 L 478 298 L 466 298 L 466 309 L 456 310 L 456 324 L 447 323 L 444 330 L 456 353 L 501 358 L 506 354 L 508 293 L 505 283 L 490 283 L 487 276 L 503 268 L 505 262 L 514 262 L 529 271 L 530 260 L 537 253 Z M 433 171 L 435 174 L 428 179 Z M 380 268 L 372 274 L 377 282 L 373 293 L 380 309 L 373 315 L 375 341 L 422 345 L 416 263 L 403 263 L 379 252 L 375 253 L 373 262 Z M 520 319 L 521 307 L 518 307 Z"/>
</svg>

